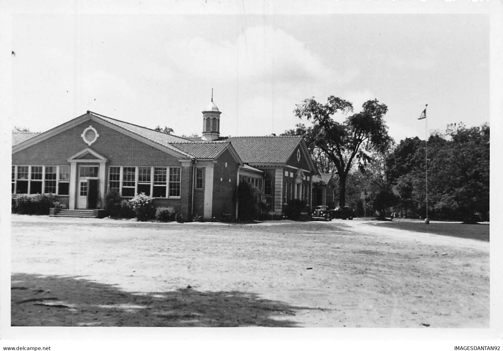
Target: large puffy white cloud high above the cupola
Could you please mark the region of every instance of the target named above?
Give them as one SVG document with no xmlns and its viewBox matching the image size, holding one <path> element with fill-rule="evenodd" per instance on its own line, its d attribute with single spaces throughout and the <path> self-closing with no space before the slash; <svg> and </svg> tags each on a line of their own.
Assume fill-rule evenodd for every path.
<svg viewBox="0 0 503 351">
<path fill-rule="evenodd" d="M 180 70 L 217 81 L 297 84 L 334 75 L 304 43 L 270 26 L 249 27 L 232 43 L 200 37 L 175 40 L 166 51 Z"/>
</svg>

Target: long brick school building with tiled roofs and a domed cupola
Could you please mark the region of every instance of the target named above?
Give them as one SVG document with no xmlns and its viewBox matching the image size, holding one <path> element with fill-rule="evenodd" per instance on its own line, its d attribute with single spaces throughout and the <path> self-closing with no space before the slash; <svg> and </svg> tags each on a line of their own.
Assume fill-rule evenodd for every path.
<svg viewBox="0 0 503 351">
<path fill-rule="evenodd" d="M 43 133 L 14 132 L 12 193 L 52 193 L 69 209 L 102 209 L 105 194 L 145 193 L 184 218 L 237 215 L 244 181 L 261 190 L 271 214 L 293 199 L 312 202 L 316 173 L 300 136 L 220 136 L 211 102 L 202 138 L 165 134 L 87 111 Z"/>
</svg>

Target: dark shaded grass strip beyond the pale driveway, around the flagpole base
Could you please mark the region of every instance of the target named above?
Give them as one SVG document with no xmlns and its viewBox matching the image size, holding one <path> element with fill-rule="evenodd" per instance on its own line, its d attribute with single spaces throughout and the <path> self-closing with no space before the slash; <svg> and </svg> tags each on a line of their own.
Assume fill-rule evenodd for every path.
<svg viewBox="0 0 503 351">
<path fill-rule="evenodd" d="M 430 233 L 458 238 L 476 239 L 489 241 L 488 224 L 461 224 L 461 223 L 430 223 L 424 222 L 383 222 L 379 226 L 415 231 L 420 233 Z"/>
</svg>

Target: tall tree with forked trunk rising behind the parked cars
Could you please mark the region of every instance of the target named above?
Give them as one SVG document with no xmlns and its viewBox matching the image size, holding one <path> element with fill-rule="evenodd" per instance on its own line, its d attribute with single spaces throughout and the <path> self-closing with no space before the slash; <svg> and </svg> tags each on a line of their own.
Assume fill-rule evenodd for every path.
<svg viewBox="0 0 503 351">
<path fill-rule="evenodd" d="M 320 149 L 333 162 L 339 175 L 339 206 L 346 204 L 346 181 L 354 161 L 360 169 L 365 169 L 373 159 L 373 152 L 384 153 L 391 144 L 384 122 L 388 107 L 377 100 L 369 100 L 362 107 L 361 112 L 341 122 L 336 117 L 353 112 L 353 105 L 334 96 L 330 96 L 326 104 L 314 98 L 306 99 L 294 110 L 298 118 L 312 122 L 304 135 L 307 144 Z"/>
</svg>

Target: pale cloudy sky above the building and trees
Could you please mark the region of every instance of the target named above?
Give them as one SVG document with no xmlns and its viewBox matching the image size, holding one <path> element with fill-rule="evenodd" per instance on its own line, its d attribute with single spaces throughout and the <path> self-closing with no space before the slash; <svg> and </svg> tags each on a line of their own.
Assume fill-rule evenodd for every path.
<svg viewBox="0 0 503 351">
<path fill-rule="evenodd" d="M 331 95 L 354 112 L 386 104 L 395 141 L 489 122 L 487 13 L 86 10 L 12 16 L 14 126 L 42 132 L 91 110 L 201 134 L 212 89 L 221 135 L 280 134 L 305 123 L 296 104 Z"/>
</svg>

